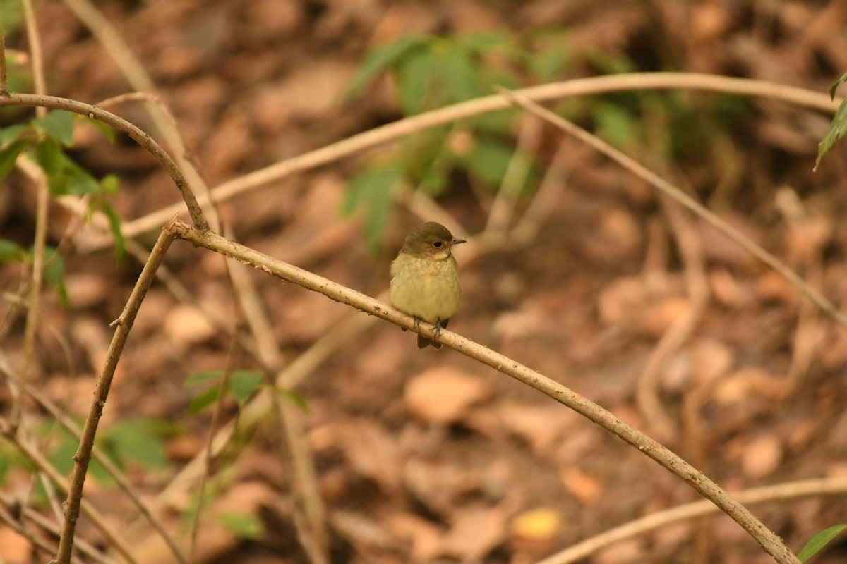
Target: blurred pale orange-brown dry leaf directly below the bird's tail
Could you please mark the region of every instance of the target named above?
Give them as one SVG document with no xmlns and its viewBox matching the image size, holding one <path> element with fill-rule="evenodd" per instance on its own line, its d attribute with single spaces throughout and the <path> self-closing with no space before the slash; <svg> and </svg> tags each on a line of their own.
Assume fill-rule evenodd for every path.
<svg viewBox="0 0 847 564">
<path fill-rule="evenodd" d="M 491 393 L 490 385 L 478 376 L 441 365 L 412 378 L 403 393 L 410 412 L 435 424 L 462 420 L 474 404 Z"/>
</svg>

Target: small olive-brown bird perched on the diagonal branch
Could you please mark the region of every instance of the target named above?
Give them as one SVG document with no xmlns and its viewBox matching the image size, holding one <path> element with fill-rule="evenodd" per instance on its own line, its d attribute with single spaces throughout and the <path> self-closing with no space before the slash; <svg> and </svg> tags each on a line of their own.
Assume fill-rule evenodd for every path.
<svg viewBox="0 0 847 564">
<path fill-rule="evenodd" d="M 424 320 L 435 324 L 438 336 L 456 313 L 462 299 L 462 283 L 451 248 L 460 243 L 466 241 L 453 237 L 440 223 L 426 222 L 407 235 L 397 258 L 391 262 L 389 301 L 415 318 L 415 329 L 419 330 L 418 322 Z M 440 342 L 418 334 L 418 348 L 427 345 L 441 348 Z"/>
</svg>

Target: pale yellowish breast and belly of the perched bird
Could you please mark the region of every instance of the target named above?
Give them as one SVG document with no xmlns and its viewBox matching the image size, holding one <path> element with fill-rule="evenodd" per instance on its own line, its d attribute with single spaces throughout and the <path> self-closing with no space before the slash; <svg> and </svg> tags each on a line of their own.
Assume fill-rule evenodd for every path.
<svg viewBox="0 0 847 564">
<path fill-rule="evenodd" d="M 389 299 L 396 309 L 429 323 L 450 319 L 462 299 L 456 260 L 398 255 L 391 263 Z"/>
</svg>

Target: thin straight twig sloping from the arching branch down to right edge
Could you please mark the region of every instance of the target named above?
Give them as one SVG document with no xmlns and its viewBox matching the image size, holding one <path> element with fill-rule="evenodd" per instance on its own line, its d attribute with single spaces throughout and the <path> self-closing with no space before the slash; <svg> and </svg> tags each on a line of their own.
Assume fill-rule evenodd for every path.
<svg viewBox="0 0 847 564">
<path fill-rule="evenodd" d="M 637 177 L 645 180 L 645 182 L 650 183 L 656 187 L 656 189 L 660 190 L 662 194 L 667 194 L 671 197 L 671 199 L 677 201 L 681 205 L 684 205 L 684 207 L 689 210 L 694 211 L 695 214 L 706 220 L 706 222 L 708 222 L 712 227 L 715 227 L 718 231 L 748 251 L 750 255 L 755 256 L 767 266 L 770 266 L 773 270 L 787 278 L 789 282 L 793 283 L 796 287 L 799 287 L 800 292 L 804 293 L 807 298 L 811 299 L 811 301 L 817 304 L 819 308 L 831 315 L 840 326 L 847 328 L 847 316 L 841 313 L 832 302 L 830 302 L 827 298 L 824 298 L 821 293 L 812 287 L 811 284 L 805 282 L 805 280 L 803 280 L 796 272 L 791 270 L 789 266 L 785 265 L 785 263 L 777 257 L 768 253 L 767 250 L 762 249 L 759 245 L 750 240 L 750 238 L 745 237 L 745 235 L 739 232 L 738 229 L 732 227 L 727 222 L 724 222 L 713 211 L 700 204 L 700 202 L 690 197 L 688 194 L 685 194 L 682 190 L 678 189 L 672 183 L 667 182 L 667 180 L 660 177 L 655 172 L 648 170 L 639 162 L 624 155 L 621 151 L 617 151 L 617 149 L 608 145 L 606 142 L 598 139 L 595 135 L 590 134 L 588 131 L 585 131 L 571 122 L 568 122 L 556 113 L 551 112 L 544 107 L 540 107 L 534 101 L 529 100 L 526 96 L 520 95 L 517 91 L 505 90 L 502 88 L 498 88 L 497 90 L 501 91 L 503 96 L 506 96 L 507 99 L 513 101 L 518 106 L 523 107 L 528 112 L 532 112 L 540 118 L 544 118 L 557 128 L 562 129 L 562 131 L 572 134 L 586 145 L 590 145 L 596 151 L 600 151 L 602 154 L 608 156 L 613 161 L 626 168 L 629 172 L 632 172 Z"/>
</svg>

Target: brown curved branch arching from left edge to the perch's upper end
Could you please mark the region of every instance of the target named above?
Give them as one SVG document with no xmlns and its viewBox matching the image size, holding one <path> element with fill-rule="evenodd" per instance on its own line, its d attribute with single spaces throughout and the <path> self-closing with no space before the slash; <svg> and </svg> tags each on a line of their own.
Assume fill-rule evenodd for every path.
<svg viewBox="0 0 847 564">
<path fill-rule="evenodd" d="M 67 98 L 59 98 L 58 96 L 40 96 L 37 94 L 9 94 L 8 96 L 0 96 L 0 107 L 3 106 L 25 106 L 25 107 L 48 107 L 54 110 L 65 110 L 67 112 L 79 113 L 83 116 L 88 116 L 91 119 L 105 123 L 113 129 L 125 133 L 138 145 L 146 149 L 163 167 L 165 172 L 168 172 L 170 178 L 174 180 L 177 189 L 182 194 L 182 200 L 188 207 L 188 213 L 191 215 L 191 221 L 198 229 L 206 230 L 209 228 L 206 217 L 197 204 L 197 198 L 191 193 L 188 183 L 185 181 L 180 168 L 176 166 L 174 160 L 165 152 L 152 137 L 138 129 L 132 123 L 124 118 L 119 118 L 111 112 L 102 110 L 97 106 L 91 106 L 81 101 L 69 100 Z M 181 211 L 181 207 L 174 213 Z M 171 214 L 174 215 L 174 214 Z M 165 220 L 167 221 L 167 219 Z"/>
</svg>

